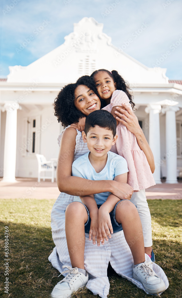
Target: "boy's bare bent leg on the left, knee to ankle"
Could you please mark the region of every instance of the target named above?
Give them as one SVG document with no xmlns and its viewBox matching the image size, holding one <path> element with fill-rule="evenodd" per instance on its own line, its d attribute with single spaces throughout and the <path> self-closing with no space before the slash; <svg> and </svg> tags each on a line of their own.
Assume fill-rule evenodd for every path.
<svg viewBox="0 0 182 298">
<path fill-rule="evenodd" d="M 72 268 L 84 269 L 87 210 L 81 202 L 70 203 L 65 211 L 65 232 Z"/>
</svg>

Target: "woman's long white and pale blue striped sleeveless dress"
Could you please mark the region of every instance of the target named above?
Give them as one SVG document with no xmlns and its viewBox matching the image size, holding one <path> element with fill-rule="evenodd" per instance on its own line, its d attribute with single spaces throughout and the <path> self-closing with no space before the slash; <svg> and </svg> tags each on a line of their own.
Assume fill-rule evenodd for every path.
<svg viewBox="0 0 182 298">
<path fill-rule="evenodd" d="M 59 145 L 62 133 L 58 138 Z M 77 131 L 74 160 L 87 152 L 87 144 L 83 142 L 81 132 Z M 77 197 L 66 193 L 60 193 L 51 212 L 52 238 L 55 247 L 48 259 L 52 263 L 52 266 L 60 273 L 66 270 L 66 268 L 63 270 L 63 265 L 71 266 L 65 235 L 65 209 L 68 204 L 73 200 L 76 200 L 76 198 Z M 93 294 L 98 294 L 102 298 L 107 298 L 110 287 L 109 279 L 107 277 L 107 267 L 109 262 L 117 274 L 127 278 L 138 288 L 145 291 L 143 285 L 139 281 L 133 279 L 133 257 L 129 246 L 126 243 L 123 231 L 112 234 L 112 238 L 109 239 L 109 241 L 105 241 L 105 244 L 101 246 L 93 245 L 92 241 L 89 241 L 88 236 L 89 234 L 86 233 L 84 266 L 85 270 L 89 273 L 89 281 L 86 287 L 92 291 Z M 145 259 L 150 261 L 147 254 L 145 254 Z M 153 269 L 164 280 L 166 288 L 168 288 L 169 283 L 164 271 L 155 263 L 153 263 Z M 64 274 L 64 276 L 66 276 L 66 274 Z"/>
</svg>

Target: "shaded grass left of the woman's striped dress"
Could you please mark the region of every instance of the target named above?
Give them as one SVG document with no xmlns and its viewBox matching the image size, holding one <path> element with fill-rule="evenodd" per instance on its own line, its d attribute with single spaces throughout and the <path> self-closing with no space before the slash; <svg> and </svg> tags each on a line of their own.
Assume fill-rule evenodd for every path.
<svg viewBox="0 0 182 298">
<path fill-rule="evenodd" d="M 1 297 L 39 298 L 50 297 L 49 293 L 57 282 L 58 271 L 48 261 L 54 248 L 50 228 L 1 222 L 9 226 L 9 294 Z M 1 231 L 1 235 L 4 231 Z M 1 241 L 4 250 L 4 241 Z M 5 258 L 4 258 L 5 259 Z M 1 262 L 1 281 L 5 281 L 5 266 Z"/>
</svg>

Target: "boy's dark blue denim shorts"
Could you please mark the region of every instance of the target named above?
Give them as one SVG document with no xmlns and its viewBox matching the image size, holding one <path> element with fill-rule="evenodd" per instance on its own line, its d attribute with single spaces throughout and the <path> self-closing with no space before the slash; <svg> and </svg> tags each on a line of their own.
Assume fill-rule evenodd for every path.
<svg viewBox="0 0 182 298">
<path fill-rule="evenodd" d="M 128 201 L 128 200 L 122 200 L 122 201 Z M 117 204 L 119 204 L 121 201 L 117 202 Z M 133 202 L 131 202 L 132 204 L 134 204 Z M 83 203 L 81 203 L 83 204 Z M 119 232 L 119 231 L 122 231 L 123 228 L 122 228 L 122 224 L 118 224 L 116 219 L 115 219 L 115 215 L 116 215 L 116 207 L 117 207 L 117 204 L 115 205 L 114 209 L 109 213 L 110 215 L 110 218 L 111 218 L 111 224 L 112 224 L 112 228 L 113 228 L 113 233 L 116 233 L 116 232 Z M 84 204 L 83 204 L 84 205 Z M 135 204 L 134 204 L 135 205 Z M 85 206 L 85 205 L 84 205 Z M 101 207 L 102 205 L 97 205 L 98 209 Z M 136 205 L 135 205 L 136 206 Z M 87 210 L 87 214 L 88 214 L 88 220 L 87 222 L 85 223 L 85 233 L 89 233 L 90 231 L 90 224 L 91 224 L 91 218 L 90 218 L 90 215 L 89 215 L 89 211 L 87 209 L 87 207 L 85 206 L 86 210 Z"/>
</svg>

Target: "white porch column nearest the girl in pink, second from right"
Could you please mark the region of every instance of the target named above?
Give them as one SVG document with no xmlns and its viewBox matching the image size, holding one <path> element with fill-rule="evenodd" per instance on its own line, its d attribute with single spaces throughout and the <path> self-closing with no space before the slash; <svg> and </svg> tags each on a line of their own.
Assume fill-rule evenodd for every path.
<svg viewBox="0 0 182 298">
<path fill-rule="evenodd" d="M 155 171 L 153 178 L 156 184 L 161 183 L 161 152 L 160 152 L 160 122 L 159 113 L 161 111 L 161 105 L 149 104 L 145 108 L 145 112 L 149 114 L 149 146 L 152 150 L 155 162 Z"/>
</svg>

